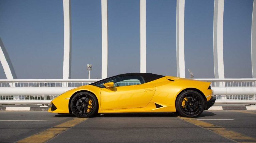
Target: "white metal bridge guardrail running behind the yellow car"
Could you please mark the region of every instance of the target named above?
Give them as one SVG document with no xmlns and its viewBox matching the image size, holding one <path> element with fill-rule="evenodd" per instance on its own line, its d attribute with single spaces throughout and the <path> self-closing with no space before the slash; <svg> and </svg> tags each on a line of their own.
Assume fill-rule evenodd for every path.
<svg viewBox="0 0 256 143">
<path fill-rule="evenodd" d="M 15 79 L 0 80 L 0 104 L 49 104 L 72 88 L 100 79 Z M 211 82 L 217 104 L 256 104 L 256 79 L 195 79 Z M 133 81 L 123 85 L 137 84 Z"/>
</svg>

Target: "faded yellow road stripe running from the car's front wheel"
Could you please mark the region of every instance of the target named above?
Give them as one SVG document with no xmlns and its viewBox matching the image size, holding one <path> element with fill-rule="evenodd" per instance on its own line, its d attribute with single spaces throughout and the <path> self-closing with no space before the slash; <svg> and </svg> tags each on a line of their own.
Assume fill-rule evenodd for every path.
<svg viewBox="0 0 256 143">
<path fill-rule="evenodd" d="M 38 134 L 34 134 L 30 137 L 22 139 L 22 140 L 18 141 L 18 143 L 43 143 L 43 142 L 46 142 L 46 141 L 56 137 L 58 134 L 62 133 L 63 131 L 66 131 L 69 128 L 71 128 L 87 119 L 88 118 L 74 118 L 72 120 L 61 123 L 52 128 L 49 128 L 45 131 L 42 131 Z"/>
</svg>

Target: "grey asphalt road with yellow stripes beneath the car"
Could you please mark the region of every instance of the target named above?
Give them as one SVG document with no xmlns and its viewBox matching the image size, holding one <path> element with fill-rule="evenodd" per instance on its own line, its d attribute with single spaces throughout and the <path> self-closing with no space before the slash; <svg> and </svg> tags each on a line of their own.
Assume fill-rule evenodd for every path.
<svg viewBox="0 0 256 143">
<path fill-rule="evenodd" d="M 255 130 L 256 111 L 248 110 L 204 111 L 193 119 L 174 113 L 81 119 L 46 111 L 0 112 L 0 142 L 256 142 Z"/>
</svg>

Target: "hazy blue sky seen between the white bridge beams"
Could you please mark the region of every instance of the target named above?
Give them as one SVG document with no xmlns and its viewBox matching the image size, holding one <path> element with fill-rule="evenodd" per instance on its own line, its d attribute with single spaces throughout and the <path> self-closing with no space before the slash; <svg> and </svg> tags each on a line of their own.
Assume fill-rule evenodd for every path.
<svg viewBox="0 0 256 143">
<path fill-rule="evenodd" d="M 252 78 L 253 0 L 225 0 L 226 78 Z M 185 1 L 185 67 L 214 78 L 214 0 Z M 101 78 L 101 0 L 71 0 L 72 79 Z M 108 0 L 109 76 L 139 72 L 139 0 Z M 176 0 L 146 1 L 147 72 L 176 76 Z M 0 37 L 18 79 L 61 79 L 62 0 L 0 0 Z M 0 64 L 0 79 L 6 79 Z"/>
</svg>

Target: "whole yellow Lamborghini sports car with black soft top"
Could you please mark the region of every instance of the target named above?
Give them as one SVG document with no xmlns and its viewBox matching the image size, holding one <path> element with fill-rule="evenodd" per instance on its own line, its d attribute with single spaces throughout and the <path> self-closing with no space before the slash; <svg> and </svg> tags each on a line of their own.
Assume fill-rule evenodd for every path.
<svg viewBox="0 0 256 143">
<path fill-rule="evenodd" d="M 210 82 L 128 73 L 69 90 L 51 102 L 48 112 L 91 117 L 97 113 L 178 112 L 199 116 L 216 100 Z"/>
</svg>

